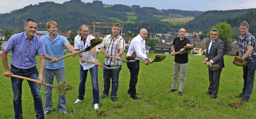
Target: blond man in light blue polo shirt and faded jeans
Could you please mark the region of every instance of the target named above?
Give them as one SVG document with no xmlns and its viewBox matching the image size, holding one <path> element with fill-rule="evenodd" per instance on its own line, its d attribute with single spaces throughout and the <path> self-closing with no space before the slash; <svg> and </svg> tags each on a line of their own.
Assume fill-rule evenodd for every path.
<svg viewBox="0 0 256 119">
<path fill-rule="evenodd" d="M 46 83 L 52 84 L 54 75 L 57 82 L 66 82 L 64 59 L 58 61 L 58 58 L 64 56 L 64 45 L 71 53 L 74 53 L 74 47 L 68 42 L 64 36 L 57 34 L 58 24 L 54 21 L 46 23 L 46 28 L 49 34 L 41 36 L 44 41 L 46 55 L 46 69 L 44 71 L 44 80 Z M 72 54 L 72 56 L 76 56 Z M 53 63 L 50 63 L 52 61 Z M 44 87 L 44 115 L 48 115 L 52 111 L 52 88 Z M 58 111 L 64 115 L 68 115 L 66 109 L 66 94 L 59 93 Z"/>
</svg>

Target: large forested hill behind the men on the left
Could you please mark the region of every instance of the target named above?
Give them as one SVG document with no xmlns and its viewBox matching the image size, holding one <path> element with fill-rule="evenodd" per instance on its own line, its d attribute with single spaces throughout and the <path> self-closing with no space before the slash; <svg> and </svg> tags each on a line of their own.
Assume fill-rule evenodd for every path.
<svg viewBox="0 0 256 119">
<path fill-rule="evenodd" d="M 59 24 L 59 29 L 77 29 L 80 24 L 92 25 L 93 19 L 96 22 L 116 22 L 113 18 L 130 23 L 143 20 L 159 20 L 156 15 L 169 16 L 170 13 L 183 14 L 183 16 L 197 16 L 201 11 L 182 10 L 158 10 L 156 8 L 126 5 L 104 6 L 102 1 L 84 3 L 81 0 L 71 0 L 63 4 L 54 2 L 42 2 L 36 5 L 29 5 L 19 10 L 0 15 L 0 26 L 4 28 L 22 28 L 24 22 L 33 18 L 41 23 L 54 20 Z M 187 14 L 190 12 L 191 15 Z M 112 19 L 111 19 L 112 18 Z M 38 28 L 45 28 L 44 25 Z"/>
</svg>

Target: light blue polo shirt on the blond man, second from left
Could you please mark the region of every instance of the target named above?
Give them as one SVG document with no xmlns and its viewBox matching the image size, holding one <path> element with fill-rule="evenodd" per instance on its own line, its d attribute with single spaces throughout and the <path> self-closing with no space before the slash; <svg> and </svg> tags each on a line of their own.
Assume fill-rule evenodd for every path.
<svg viewBox="0 0 256 119">
<path fill-rule="evenodd" d="M 41 36 L 45 44 L 46 54 L 54 58 L 61 58 L 64 56 L 64 45 L 69 43 L 64 36 L 57 34 L 56 38 L 52 41 L 49 34 Z M 50 63 L 50 59 L 45 59 L 47 69 L 60 69 L 65 67 L 64 59 L 59 60 L 57 63 Z"/>
</svg>

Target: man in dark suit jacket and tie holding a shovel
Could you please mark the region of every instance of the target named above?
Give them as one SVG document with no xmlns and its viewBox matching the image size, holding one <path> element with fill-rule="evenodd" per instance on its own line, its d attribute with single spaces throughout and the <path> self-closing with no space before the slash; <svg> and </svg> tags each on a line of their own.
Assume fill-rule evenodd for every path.
<svg viewBox="0 0 256 119">
<path fill-rule="evenodd" d="M 217 98 L 219 85 L 220 85 L 220 73 L 224 67 L 223 49 L 224 43 L 218 39 L 219 30 L 216 28 L 211 29 L 210 38 L 206 41 L 206 56 L 204 63 L 207 65 L 218 64 L 220 67 L 208 68 L 210 85 L 208 87 L 207 94 L 211 95 L 211 98 Z"/>
</svg>

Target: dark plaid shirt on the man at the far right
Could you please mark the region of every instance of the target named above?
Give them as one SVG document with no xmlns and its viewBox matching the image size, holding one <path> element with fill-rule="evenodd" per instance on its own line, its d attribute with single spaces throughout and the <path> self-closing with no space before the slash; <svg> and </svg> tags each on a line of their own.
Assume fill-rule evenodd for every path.
<svg viewBox="0 0 256 119">
<path fill-rule="evenodd" d="M 248 56 L 245 60 L 256 59 L 256 44 L 255 44 L 255 37 L 248 32 L 246 36 L 243 38 L 242 34 L 239 36 L 239 48 L 241 51 L 241 56 L 243 57 L 244 54 L 247 52 L 247 46 L 252 46 L 252 54 Z"/>
</svg>

